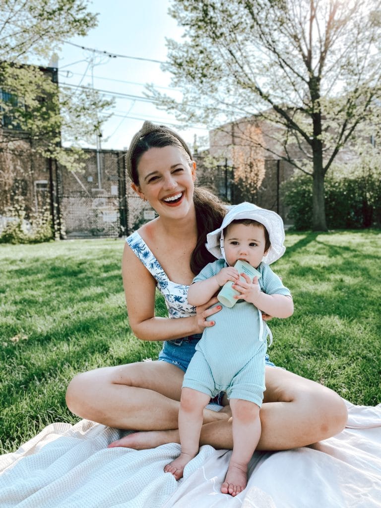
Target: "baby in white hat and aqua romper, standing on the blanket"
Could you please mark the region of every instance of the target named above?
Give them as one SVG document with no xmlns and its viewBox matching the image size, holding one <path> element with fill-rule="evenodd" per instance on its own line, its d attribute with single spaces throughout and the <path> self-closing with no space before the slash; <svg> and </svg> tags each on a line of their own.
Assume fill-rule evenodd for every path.
<svg viewBox="0 0 381 508">
<path fill-rule="evenodd" d="M 248 462 L 261 436 L 259 417 L 265 391 L 265 354 L 269 329 L 262 312 L 289 317 L 294 306 L 290 291 L 269 267 L 284 253 L 281 217 L 251 203 L 233 207 L 221 227 L 207 235 L 207 249 L 217 261 L 197 275 L 188 290 L 188 302 L 208 302 L 232 281 L 237 304 L 213 316 L 215 326 L 204 330 L 184 375 L 179 432 L 181 454 L 167 464 L 178 480 L 185 465 L 197 455 L 203 409 L 210 398 L 225 391 L 233 417 L 233 452 L 221 492 L 235 496 L 247 483 Z M 234 264 L 245 261 L 260 276 L 239 274 Z"/>
</svg>

